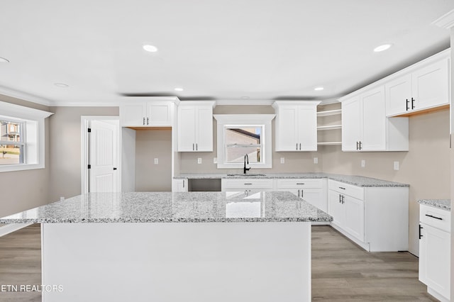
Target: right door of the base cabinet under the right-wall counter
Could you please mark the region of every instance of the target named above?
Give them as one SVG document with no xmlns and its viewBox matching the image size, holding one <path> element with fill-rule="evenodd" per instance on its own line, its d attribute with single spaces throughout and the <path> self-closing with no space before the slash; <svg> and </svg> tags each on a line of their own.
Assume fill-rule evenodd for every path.
<svg viewBox="0 0 454 302">
<path fill-rule="evenodd" d="M 344 196 L 343 202 L 345 211 L 344 230 L 364 241 L 364 202 L 351 196 Z"/>
</svg>

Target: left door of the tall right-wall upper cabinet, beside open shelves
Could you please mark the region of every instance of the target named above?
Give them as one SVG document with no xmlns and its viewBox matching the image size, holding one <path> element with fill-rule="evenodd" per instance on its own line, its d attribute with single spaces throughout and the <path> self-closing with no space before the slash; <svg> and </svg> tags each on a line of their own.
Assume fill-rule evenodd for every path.
<svg viewBox="0 0 454 302">
<path fill-rule="evenodd" d="M 356 151 L 361 138 L 361 104 L 360 99 L 342 103 L 342 150 Z"/>
</svg>

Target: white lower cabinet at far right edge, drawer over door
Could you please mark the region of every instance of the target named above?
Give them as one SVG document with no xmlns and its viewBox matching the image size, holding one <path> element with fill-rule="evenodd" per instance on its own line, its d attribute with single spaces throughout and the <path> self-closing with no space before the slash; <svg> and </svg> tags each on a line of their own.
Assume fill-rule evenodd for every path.
<svg viewBox="0 0 454 302">
<path fill-rule="evenodd" d="M 421 205 L 419 281 L 440 301 L 450 297 L 450 212 Z"/>
</svg>

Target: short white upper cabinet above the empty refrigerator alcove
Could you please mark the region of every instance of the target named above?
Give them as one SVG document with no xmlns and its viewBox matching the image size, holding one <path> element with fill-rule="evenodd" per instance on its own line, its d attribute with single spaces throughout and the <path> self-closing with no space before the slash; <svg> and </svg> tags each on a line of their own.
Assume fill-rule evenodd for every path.
<svg viewBox="0 0 454 302">
<path fill-rule="evenodd" d="M 171 127 L 174 101 L 146 98 L 120 104 L 122 127 Z"/>
</svg>

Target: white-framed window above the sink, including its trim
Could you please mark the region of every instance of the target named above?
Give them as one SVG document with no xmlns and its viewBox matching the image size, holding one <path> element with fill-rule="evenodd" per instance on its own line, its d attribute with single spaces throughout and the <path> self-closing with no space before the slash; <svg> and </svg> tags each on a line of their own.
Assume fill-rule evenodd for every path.
<svg viewBox="0 0 454 302">
<path fill-rule="evenodd" d="M 274 114 L 215 114 L 218 168 L 271 168 L 271 121 Z"/>
</svg>

